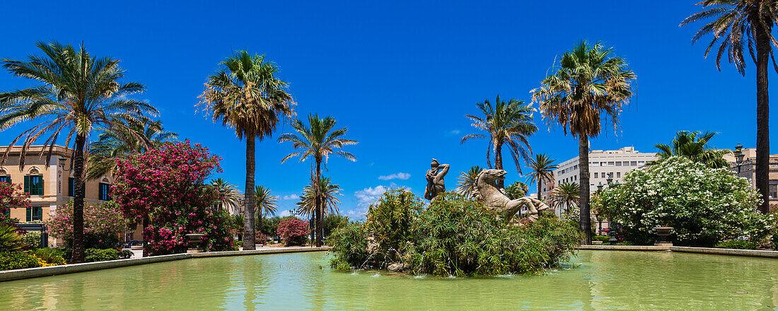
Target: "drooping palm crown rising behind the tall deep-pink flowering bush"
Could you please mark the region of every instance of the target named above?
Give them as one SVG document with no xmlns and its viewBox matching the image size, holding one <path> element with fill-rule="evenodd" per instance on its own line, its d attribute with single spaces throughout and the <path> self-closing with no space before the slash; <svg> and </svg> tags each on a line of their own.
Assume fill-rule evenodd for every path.
<svg viewBox="0 0 778 311">
<path fill-rule="evenodd" d="M 89 166 L 86 169 L 86 179 L 96 180 L 100 176 L 113 172 L 116 159 L 124 159 L 137 155 L 151 148 L 158 148 L 165 142 L 177 138 L 177 134 L 165 131 L 162 121 L 152 121 L 149 118 L 129 121 L 127 128 L 118 131 L 104 129 L 97 136 L 89 150 Z"/>
</svg>

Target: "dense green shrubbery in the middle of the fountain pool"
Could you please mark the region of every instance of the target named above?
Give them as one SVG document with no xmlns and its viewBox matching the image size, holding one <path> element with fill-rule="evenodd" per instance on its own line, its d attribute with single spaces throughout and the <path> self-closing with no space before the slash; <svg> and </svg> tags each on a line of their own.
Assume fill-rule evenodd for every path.
<svg viewBox="0 0 778 311">
<path fill-rule="evenodd" d="M 424 210 L 419 203 L 410 192 L 388 191 L 365 223 L 332 234 L 332 267 L 401 264 L 415 274 L 441 276 L 527 273 L 567 260 L 581 240 L 572 222 L 545 216 L 509 226 L 459 194 L 440 194 Z"/>
</svg>

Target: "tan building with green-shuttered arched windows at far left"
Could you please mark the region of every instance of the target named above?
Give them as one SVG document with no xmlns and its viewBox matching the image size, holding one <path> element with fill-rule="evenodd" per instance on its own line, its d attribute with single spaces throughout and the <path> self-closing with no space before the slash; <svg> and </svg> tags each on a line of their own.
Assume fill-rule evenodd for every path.
<svg viewBox="0 0 778 311">
<path fill-rule="evenodd" d="M 5 151 L 6 147 L 0 147 Z M 74 196 L 75 178 L 72 169 L 72 150 L 55 145 L 51 156 L 47 158 L 48 150 L 41 155 L 43 146 L 30 146 L 26 151 L 24 166 L 19 167 L 21 146 L 11 148 L 8 159 L 0 166 L 0 181 L 18 183 L 23 191 L 30 194 L 31 208 L 9 208 L 5 211 L 19 222 L 44 222 L 57 207 L 71 201 Z M 48 161 L 47 161 L 48 160 Z M 84 183 L 84 203 L 103 204 L 111 200 L 111 176 L 100 176 L 97 180 L 87 180 Z M 137 231 L 137 230 L 135 230 Z M 134 236 L 133 236 L 134 235 Z M 127 232 L 121 239 L 142 239 L 138 233 Z M 61 243 L 50 239 L 49 244 Z"/>
</svg>

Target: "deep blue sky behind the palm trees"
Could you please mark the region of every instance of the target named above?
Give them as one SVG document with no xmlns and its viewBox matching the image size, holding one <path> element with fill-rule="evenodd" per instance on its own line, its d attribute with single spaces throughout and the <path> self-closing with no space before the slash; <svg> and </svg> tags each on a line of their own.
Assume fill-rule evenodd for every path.
<svg viewBox="0 0 778 311">
<path fill-rule="evenodd" d="M 26 58 L 39 54 L 37 40 L 59 40 L 121 59 L 166 129 L 222 156 L 219 175 L 243 188 L 245 143 L 194 106 L 233 50 L 265 54 L 289 82 L 298 117 L 329 114 L 359 141 L 348 148 L 357 162 L 331 158 L 324 172 L 343 189 L 342 214 L 358 215 L 385 187 L 421 196 L 431 158 L 450 163 L 448 188 L 460 171 L 485 166 L 485 141 L 459 143 L 475 132 L 464 115 L 497 94 L 529 101 L 555 55 L 582 39 L 615 47 L 638 77 L 622 127 L 605 129 L 592 149 L 652 152 L 681 130 L 720 132 L 717 148 L 754 147 L 755 66 L 744 78 L 703 58 L 706 42 L 691 44 L 701 25 L 678 27 L 699 11 L 695 2 L 14 2 L 0 19 L 0 58 Z M 0 72 L 0 90 L 29 85 Z M 577 155 L 575 138 L 535 117 L 534 152 L 559 162 Z M 32 125 L 0 132 L 0 145 Z M 275 138 L 257 145 L 257 182 L 288 210 L 310 162 L 280 163 L 292 147 Z M 508 182 L 524 180 L 505 164 Z"/>
</svg>

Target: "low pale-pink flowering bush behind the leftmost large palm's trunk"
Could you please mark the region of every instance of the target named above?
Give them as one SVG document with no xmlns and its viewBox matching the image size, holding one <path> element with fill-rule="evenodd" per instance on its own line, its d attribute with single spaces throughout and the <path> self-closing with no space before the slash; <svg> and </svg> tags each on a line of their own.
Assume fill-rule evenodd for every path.
<svg viewBox="0 0 778 311">
<path fill-rule="evenodd" d="M 53 238 L 73 238 L 73 201 L 59 205 L 46 221 L 48 234 Z M 113 201 L 84 205 L 84 234 L 120 234 L 127 229 L 127 221 Z"/>
</svg>

